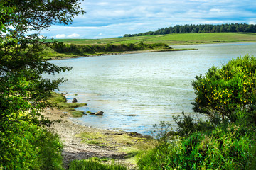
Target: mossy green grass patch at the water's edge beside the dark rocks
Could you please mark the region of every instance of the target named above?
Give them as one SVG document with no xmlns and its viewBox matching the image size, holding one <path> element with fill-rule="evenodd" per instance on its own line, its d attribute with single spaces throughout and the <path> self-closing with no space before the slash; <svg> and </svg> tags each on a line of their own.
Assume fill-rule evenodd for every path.
<svg viewBox="0 0 256 170">
<path fill-rule="evenodd" d="M 86 106 L 86 103 L 67 103 L 64 94 L 52 92 L 50 98 L 48 99 L 48 102 L 56 108 L 59 108 L 61 111 L 70 113 L 75 118 L 85 115 L 84 111 L 78 111 L 75 110 L 75 108 Z"/>
</svg>

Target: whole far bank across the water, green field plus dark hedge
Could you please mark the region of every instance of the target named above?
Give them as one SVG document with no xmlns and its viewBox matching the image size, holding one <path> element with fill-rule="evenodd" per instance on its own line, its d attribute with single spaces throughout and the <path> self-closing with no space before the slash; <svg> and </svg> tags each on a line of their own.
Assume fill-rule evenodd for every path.
<svg viewBox="0 0 256 170">
<path fill-rule="evenodd" d="M 124 52 L 176 50 L 169 47 L 169 45 L 253 41 L 256 41 L 256 33 L 174 33 L 103 39 L 57 39 L 58 43 L 53 45 L 53 48 L 46 47 L 41 55 L 46 59 L 55 59 L 62 57 L 114 55 Z"/>
</svg>

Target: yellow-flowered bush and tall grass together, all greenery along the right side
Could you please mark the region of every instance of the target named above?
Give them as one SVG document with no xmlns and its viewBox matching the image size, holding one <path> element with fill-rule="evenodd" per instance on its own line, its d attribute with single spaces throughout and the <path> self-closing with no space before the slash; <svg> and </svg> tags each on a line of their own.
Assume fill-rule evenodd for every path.
<svg viewBox="0 0 256 170">
<path fill-rule="evenodd" d="M 245 56 L 196 77 L 193 109 L 206 119 L 174 117 L 177 130 L 139 154 L 139 169 L 255 169 L 255 75 L 256 58 Z"/>
</svg>

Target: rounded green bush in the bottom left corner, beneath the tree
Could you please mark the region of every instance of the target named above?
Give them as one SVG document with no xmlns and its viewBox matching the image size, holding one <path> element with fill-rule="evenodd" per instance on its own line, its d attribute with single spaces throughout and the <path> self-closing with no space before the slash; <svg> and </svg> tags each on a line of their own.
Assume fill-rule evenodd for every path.
<svg viewBox="0 0 256 170">
<path fill-rule="evenodd" d="M 4 125 L 0 132 L 0 169 L 62 169 L 63 145 L 57 135 L 27 121 L 14 127 Z"/>
</svg>

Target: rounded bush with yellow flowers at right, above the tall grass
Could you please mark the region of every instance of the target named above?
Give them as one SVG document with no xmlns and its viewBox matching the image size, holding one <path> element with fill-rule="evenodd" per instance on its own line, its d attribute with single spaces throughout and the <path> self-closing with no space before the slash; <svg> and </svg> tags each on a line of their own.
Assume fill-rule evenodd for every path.
<svg viewBox="0 0 256 170">
<path fill-rule="evenodd" d="M 221 68 L 211 67 L 205 76 L 197 76 L 192 82 L 196 100 L 193 110 L 214 118 L 238 120 L 255 113 L 256 59 L 245 55 L 230 60 Z"/>
</svg>

